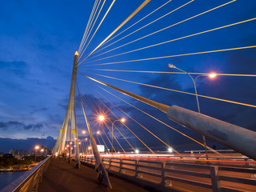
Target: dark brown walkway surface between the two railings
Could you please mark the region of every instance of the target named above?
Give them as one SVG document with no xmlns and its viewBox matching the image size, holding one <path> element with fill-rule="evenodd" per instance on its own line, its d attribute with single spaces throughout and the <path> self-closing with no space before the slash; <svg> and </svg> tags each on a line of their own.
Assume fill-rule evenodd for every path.
<svg viewBox="0 0 256 192">
<path fill-rule="evenodd" d="M 81 169 L 74 168 L 74 162 L 67 163 L 60 158 L 53 158 L 42 182 L 39 183 L 38 192 L 51 191 L 148 191 L 129 182 L 110 176 L 113 190 L 102 186 L 97 179 L 94 169 L 81 165 Z"/>
</svg>

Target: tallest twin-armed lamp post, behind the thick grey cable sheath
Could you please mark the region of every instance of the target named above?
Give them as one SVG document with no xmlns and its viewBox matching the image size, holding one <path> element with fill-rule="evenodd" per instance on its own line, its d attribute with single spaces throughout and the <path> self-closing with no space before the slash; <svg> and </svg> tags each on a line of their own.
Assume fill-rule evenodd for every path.
<svg viewBox="0 0 256 192">
<path fill-rule="evenodd" d="M 199 102 L 198 102 L 198 90 L 197 90 L 197 86 L 196 86 L 196 80 L 197 80 L 197 78 L 200 77 L 200 76 L 208 76 L 208 77 L 210 77 L 210 78 L 215 78 L 215 77 L 216 77 L 216 74 L 209 74 L 209 75 L 207 75 L 207 74 L 199 74 L 198 76 L 196 76 L 195 78 L 193 78 L 193 77 L 190 75 L 190 73 L 186 72 L 185 70 L 179 69 L 177 66 L 174 66 L 174 64 L 171 64 L 171 63 L 170 63 L 170 64 L 168 64 L 168 66 L 169 66 L 170 68 L 180 70 L 180 71 L 182 71 L 182 72 L 184 72 L 184 73 L 186 73 L 186 74 L 188 74 L 188 75 L 190 76 L 190 78 L 192 79 L 192 81 L 193 81 L 193 83 L 194 83 L 194 94 L 195 94 L 195 97 L 196 97 L 196 99 L 197 99 L 198 113 L 201 114 L 201 110 L 200 110 L 200 106 L 199 106 Z M 205 151 L 206 151 L 206 158 L 208 158 L 207 147 L 206 147 L 206 137 L 205 137 L 204 134 L 202 134 L 202 141 L 203 141 L 203 145 L 204 145 Z"/>
</svg>

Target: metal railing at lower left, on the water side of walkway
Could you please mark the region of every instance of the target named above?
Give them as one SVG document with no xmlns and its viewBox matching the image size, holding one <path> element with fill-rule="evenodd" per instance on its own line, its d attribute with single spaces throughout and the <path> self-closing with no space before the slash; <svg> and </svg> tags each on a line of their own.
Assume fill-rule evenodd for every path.
<svg viewBox="0 0 256 192">
<path fill-rule="evenodd" d="M 52 156 L 39 162 L 37 166 L 34 166 L 31 170 L 22 174 L 21 177 L 14 180 L 14 182 L 11 182 L 10 185 L 3 188 L 0 192 L 38 191 L 38 183 L 42 182 L 42 176 L 50 165 L 51 158 Z"/>
</svg>

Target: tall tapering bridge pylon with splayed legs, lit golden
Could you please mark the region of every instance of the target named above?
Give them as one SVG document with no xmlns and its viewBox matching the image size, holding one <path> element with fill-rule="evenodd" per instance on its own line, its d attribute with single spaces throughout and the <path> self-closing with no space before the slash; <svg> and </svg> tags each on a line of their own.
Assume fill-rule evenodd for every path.
<svg viewBox="0 0 256 192">
<path fill-rule="evenodd" d="M 73 65 L 73 72 L 71 78 L 71 85 L 70 85 L 70 98 L 66 110 L 66 117 L 64 122 L 62 123 L 62 128 L 59 130 L 58 138 L 54 146 L 53 154 L 59 155 L 64 154 L 65 145 L 66 145 L 66 137 L 69 132 L 68 124 L 70 123 L 70 134 L 74 139 L 74 149 L 76 151 L 76 163 L 77 167 L 80 167 L 80 160 L 79 160 L 79 144 L 78 144 L 78 129 L 76 125 L 76 116 L 75 116 L 75 86 L 76 86 L 76 78 L 77 78 L 77 68 L 78 68 L 78 51 L 74 54 L 74 65 Z M 71 136 L 70 135 L 70 136 Z M 71 139 L 71 137 L 70 137 Z M 71 141 L 70 141 L 71 142 Z M 70 154 L 71 154 L 71 146 L 70 146 Z M 70 155 L 71 158 L 71 155 Z M 70 159 L 71 160 L 71 159 Z"/>
</svg>

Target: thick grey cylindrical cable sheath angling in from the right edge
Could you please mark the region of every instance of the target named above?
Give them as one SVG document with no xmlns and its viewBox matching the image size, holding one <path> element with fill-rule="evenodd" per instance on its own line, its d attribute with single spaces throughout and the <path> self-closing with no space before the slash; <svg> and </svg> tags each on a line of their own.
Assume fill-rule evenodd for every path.
<svg viewBox="0 0 256 192">
<path fill-rule="evenodd" d="M 167 116 L 172 121 L 194 130 L 198 134 L 228 146 L 256 160 L 256 132 L 235 126 L 180 106 L 170 106 Z"/>
</svg>

